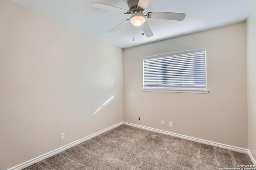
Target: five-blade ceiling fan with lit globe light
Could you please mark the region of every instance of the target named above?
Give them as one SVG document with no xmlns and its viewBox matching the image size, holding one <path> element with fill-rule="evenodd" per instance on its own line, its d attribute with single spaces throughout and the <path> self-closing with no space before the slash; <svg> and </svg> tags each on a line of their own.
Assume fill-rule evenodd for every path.
<svg viewBox="0 0 256 170">
<path fill-rule="evenodd" d="M 146 22 L 146 17 L 154 18 L 154 19 L 182 21 L 186 16 L 186 14 L 184 13 L 173 13 L 173 12 L 148 12 L 145 15 L 144 13 L 146 12 L 146 8 L 149 2 L 150 0 L 130 0 L 128 2 L 129 10 L 125 10 L 122 8 L 118 8 L 118 7 L 110 6 L 106 4 L 101 4 L 98 2 L 92 2 L 91 5 L 92 7 L 95 7 L 95 8 L 132 15 L 130 19 L 123 21 L 122 23 L 120 23 L 119 25 L 117 25 L 116 27 L 108 31 L 110 33 L 116 32 L 118 29 L 122 28 L 124 25 L 130 22 L 132 23 L 132 25 L 136 27 L 141 27 L 146 37 L 152 37 L 154 34 L 152 33 L 148 23 Z M 144 33 L 142 33 L 142 35 L 144 35 Z"/>
</svg>

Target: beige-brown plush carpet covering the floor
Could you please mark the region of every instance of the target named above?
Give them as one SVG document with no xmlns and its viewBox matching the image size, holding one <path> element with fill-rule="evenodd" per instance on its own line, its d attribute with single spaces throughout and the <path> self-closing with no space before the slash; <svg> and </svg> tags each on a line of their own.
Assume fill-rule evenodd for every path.
<svg viewBox="0 0 256 170">
<path fill-rule="evenodd" d="M 219 170 L 247 154 L 121 125 L 26 170 Z"/>
</svg>

